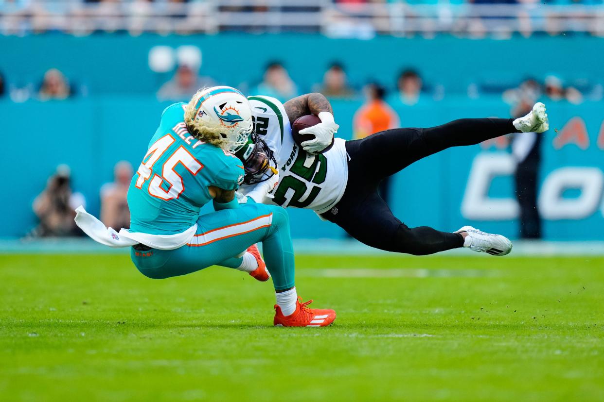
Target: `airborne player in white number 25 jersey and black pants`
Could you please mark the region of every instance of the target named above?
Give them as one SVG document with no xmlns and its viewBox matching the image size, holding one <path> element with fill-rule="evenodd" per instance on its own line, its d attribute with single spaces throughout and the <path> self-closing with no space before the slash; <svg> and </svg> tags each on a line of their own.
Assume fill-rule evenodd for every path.
<svg viewBox="0 0 604 402">
<path fill-rule="evenodd" d="M 452 248 L 505 256 L 512 243 L 500 234 L 471 226 L 454 233 L 431 227 L 407 227 L 377 194 L 378 184 L 428 155 L 451 146 L 473 145 L 507 133 L 542 133 L 548 129 L 545 105 L 535 104 L 519 119 L 459 119 L 431 128 L 396 128 L 361 140 L 345 141 L 329 101 L 320 93 L 298 96 L 284 104 L 268 96 L 249 96 L 254 133 L 235 149 L 246 168 L 243 193 L 255 181 L 269 180 L 269 165 L 279 171 L 279 184 L 262 202 L 314 210 L 359 241 L 387 251 L 425 255 Z M 314 138 L 296 143 L 291 125 L 300 116 L 316 115 L 321 123 L 300 130 Z"/>
</svg>

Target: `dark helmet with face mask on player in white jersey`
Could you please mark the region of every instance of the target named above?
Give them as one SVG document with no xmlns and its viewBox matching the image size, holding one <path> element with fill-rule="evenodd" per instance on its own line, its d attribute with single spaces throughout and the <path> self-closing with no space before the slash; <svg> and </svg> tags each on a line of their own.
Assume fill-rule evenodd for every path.
<svg viewBox="0 0 604 402">
<path fill-rule="evenodd" d="M 277 161 L 266 142 L 252 131 L 248 142 L 235 155 L 243 162 L 243 184 L 255 184 L 268 180 L 277 172 Z"/>
</svg>

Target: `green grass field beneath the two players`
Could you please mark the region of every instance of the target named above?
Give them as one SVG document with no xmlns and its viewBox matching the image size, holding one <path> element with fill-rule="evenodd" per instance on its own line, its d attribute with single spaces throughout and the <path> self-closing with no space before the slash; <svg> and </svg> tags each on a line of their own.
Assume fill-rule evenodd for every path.
<svg viewBox="0 0 604 402">
<path fill-rule="evenodd" d="M 297 259 L 329 328 L 241 272 L 0 256 L 2 401 L 604 401 L 604 257 Z"/>
</svg>

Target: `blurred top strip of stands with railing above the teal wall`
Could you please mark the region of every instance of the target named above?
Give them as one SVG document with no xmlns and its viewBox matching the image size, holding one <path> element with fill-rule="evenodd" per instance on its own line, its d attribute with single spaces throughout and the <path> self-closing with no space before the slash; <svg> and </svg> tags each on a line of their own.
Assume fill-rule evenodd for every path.
<svg viewBox="0 0 604 402">
<path fill-rule="evenodd" d="M 371 38 L 454 33 L 508 37 L 582 33 L 604 36 L 603 4 L 333 4 L 328 0 L 228 0 L 100 2 L 79 0 L 0 4 L 0 33 L 97 31 L 153 33 L 307 32 Z"/>
</svg>

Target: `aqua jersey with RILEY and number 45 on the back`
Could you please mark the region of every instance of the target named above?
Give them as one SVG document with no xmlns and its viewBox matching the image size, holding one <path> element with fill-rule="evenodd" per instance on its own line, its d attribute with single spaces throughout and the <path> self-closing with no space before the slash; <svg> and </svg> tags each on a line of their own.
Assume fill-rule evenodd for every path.
<svg viewBox="0 0 604 402">
<path fill-rule="evenodd" d="M 181 233 L 199 218 L 208 186 L 237 189 L 243 166 L 230 152 L 195 139 L 184 123 L 185 103 L 165 108 L 149 150 L 128 189 L 130 231 Z"/>
</svg>

